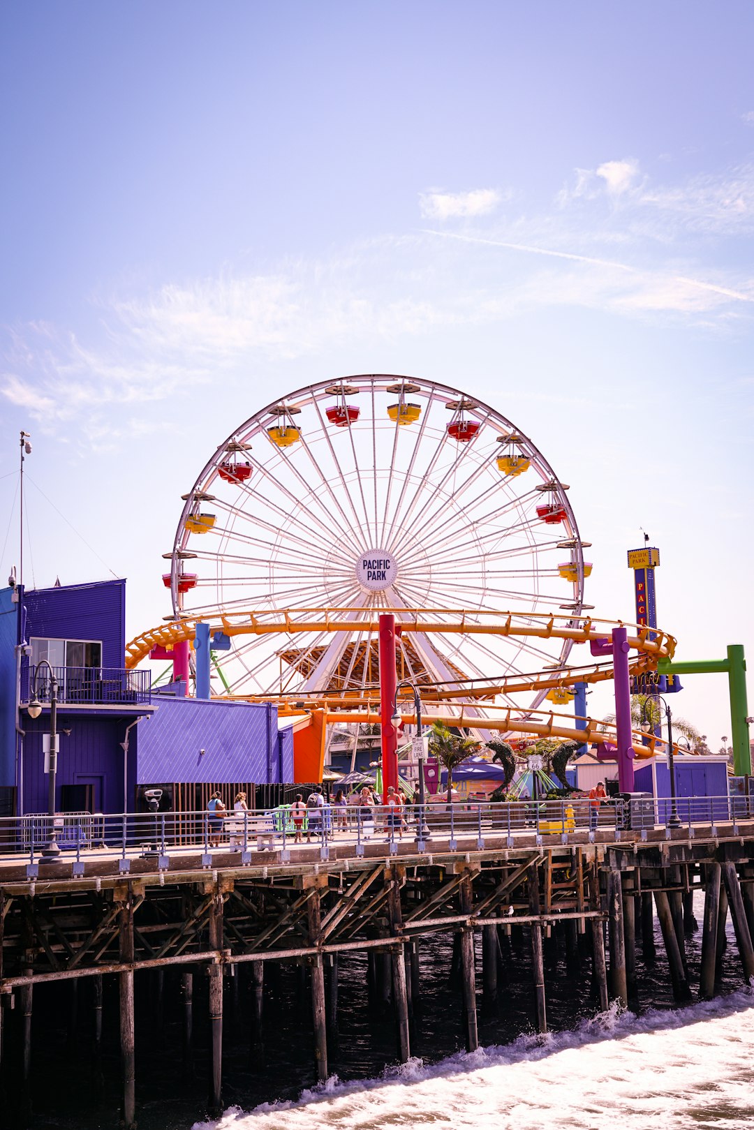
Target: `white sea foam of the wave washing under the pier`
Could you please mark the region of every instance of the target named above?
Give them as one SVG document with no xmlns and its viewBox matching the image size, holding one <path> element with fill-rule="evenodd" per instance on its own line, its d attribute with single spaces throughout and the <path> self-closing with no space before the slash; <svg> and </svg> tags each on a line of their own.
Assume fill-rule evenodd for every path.
<svg viewBox="0 0 754 1130">
<path fill-rule="evenodd" d="M 194 1130 L 744 1130 L 753 1046 L 752 992 L 640 1017 L 612 1008 L 573 1032 L 411 1060 L 379 1079 L 332 1077 L 295 1103 L 232 1107 Z"/>
</svg>

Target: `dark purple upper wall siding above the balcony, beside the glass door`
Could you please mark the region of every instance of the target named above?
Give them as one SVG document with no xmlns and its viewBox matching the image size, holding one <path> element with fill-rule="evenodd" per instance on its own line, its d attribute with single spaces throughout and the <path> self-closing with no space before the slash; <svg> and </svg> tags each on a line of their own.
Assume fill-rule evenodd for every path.
<svg viewBox="0 0 754 1130">
<path fill-rule="evenodd" d="M 24 603 L 27 638 L 102 640 L 102 666 L 123 666 L 125 581 L 33 589 Z"/>
</svg>

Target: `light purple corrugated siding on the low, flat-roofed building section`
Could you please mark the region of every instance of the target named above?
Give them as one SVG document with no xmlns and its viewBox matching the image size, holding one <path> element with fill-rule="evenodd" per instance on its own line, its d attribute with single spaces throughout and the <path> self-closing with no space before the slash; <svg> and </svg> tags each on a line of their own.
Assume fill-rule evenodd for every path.
<svg viewBox="0 0 754 1130">
<path fill-rule="evenodd" d="M 168 698 L 136 733 L 139 784 L 293 780 L 293 736 L 280 741 L 276 706 Z"/>
</svg>

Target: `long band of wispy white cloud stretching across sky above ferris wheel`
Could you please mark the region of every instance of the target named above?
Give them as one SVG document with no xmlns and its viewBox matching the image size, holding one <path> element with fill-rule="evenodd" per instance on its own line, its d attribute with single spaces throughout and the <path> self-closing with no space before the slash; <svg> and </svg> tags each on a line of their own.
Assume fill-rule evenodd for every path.
<svg viewBox="0 0 754 1130">
<path fill-rule="evenodd" d="M 712 252 L 718 236 L 749 229 L 753 188 L 751 166 L 666 185 L 616 158 L 578 171 L 560 207 L 532 215 L 503 216 L 496 189 L 424 193 L 434 223 L 414 234 L 98 296 L 98 328 L 86 333 L 16 327 L 0 395 L 44 427 L 76 420 L 102 449 L 161 419 L 167 427 L 161 401 L 215 381 L 242 388 L 260 362 L 372 351 L 564 305 L 739 323 L 751 318 L 754 280 L 740 257 L 725 270 L 725 254 Z"/>
</svg>

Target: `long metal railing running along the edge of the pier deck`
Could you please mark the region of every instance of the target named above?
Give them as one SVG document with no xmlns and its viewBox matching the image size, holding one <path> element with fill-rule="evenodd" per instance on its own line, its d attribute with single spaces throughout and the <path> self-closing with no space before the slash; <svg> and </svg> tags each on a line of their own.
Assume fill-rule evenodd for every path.
<svg viewBox="0 0 754 1130">
<path fill-rule="evenodd" d="M 287 862 L 300 847 L 318 847 L 329 859 L 374 854 L 372 844 L 387 845 L 387 854 L 415 851 L 484 850 L 485 842 L 514 846 L 532 834 L 537 842 L 572 835 L 657 827 L 692 827 L 754 817 L 754 798 L 683 797 L 676 802 L 664 798 L 632 796 L 595 805 L 588 799 L 522 800 L 511 802 L 433 801 L 418 805 L 373 806 L 326 803 L 296 811 L 289 805 L 272 809 L 194 812 L 60 812 L 54 819 L 43 814 L 0 818 L 0 870 L 26 864 L 27 877 L 38 873 L 42 862 L 72 863 L 72 876 L 83 876 L 85 866 L 109 860 L 128 872 L 136 858 L 155 859 L 161 870 L 193 866 L 216 866 L 215 854 L 231 854 L 231 863 L 249 864 L 257 852 L 275 853 L 272 862 Z M 735 832 L 733 833 L 735 834 Z M 583 838 L 583 837 L 582 837 Z M 600 836 L 601 838 L 601 836 Z M 527 841 L 527 842 L 530 842 Z M 549 843 L 553 838 L 548 840 Z M 401 845 L 406 845 L 402 846 Z M 305 857 L 309 858 L 309 857 Z M 269 860 L 267 855 L 267 860 Z M 225 864 L 227 866 L 227 863 Z"/>
</svg>

